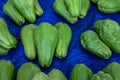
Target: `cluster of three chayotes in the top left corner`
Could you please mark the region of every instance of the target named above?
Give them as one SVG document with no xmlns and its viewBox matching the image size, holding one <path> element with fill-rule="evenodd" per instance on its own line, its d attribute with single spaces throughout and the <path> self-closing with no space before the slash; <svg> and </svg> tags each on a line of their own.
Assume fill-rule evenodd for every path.
<svg viewBox="0 0 120 80">
<path fill-rule="evenodd" d="M 22 25 L 25 20 L 34 23 L 36 15 L 41 16 L 43 14 L 38 0 L 8 0 L 3 6 L 3 11 L 17 25 Z"/>
</svg>

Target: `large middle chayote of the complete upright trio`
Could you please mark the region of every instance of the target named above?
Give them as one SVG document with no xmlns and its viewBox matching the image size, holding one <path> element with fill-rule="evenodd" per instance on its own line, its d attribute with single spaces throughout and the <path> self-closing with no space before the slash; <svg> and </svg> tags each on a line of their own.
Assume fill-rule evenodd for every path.
<svg viewBox="0 0 120 80">
<path fill-rule="evenodd" d="M 47 22 L 41 23 L 34 31 L 34 39 L 39 64 L 49 67 L 58 42 L 57 29 Z"/>
</svg>

